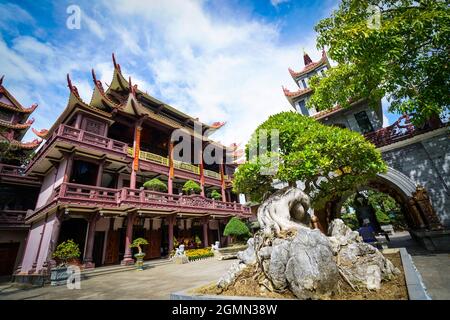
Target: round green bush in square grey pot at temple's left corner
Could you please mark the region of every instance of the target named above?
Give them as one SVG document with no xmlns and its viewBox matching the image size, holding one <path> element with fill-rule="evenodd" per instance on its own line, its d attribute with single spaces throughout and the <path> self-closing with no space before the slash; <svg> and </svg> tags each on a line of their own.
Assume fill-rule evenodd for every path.
<svg viewBox="0 0 450 320">
<path fill-rule="evenodd" d="M 69 278 L 67 273 L 68 265 L 80 257 L 80 248 L 72 239 L 60 243 L 52 257 L 58 265 L 51 269 L 50 281 L 52 286 L 65 284 Z"/>
</svg>

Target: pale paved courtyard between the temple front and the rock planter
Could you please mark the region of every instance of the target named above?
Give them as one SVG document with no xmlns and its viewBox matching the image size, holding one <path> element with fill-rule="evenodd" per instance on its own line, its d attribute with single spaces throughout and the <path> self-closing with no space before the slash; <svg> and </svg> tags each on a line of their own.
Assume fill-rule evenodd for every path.
<svg viewBox="0 0 450 320">
<path fill-rule="evenodd" d="M 169 299 L 171 292 L 216 281 L 236 260 L 215 258 L 188 264 L 163 263 L 144 271 L 130 270 L 82 280 L 80 290 L 66 286 L 20 288 L 0 284 L 0 300 L 6 299 Z"/>
</svg>

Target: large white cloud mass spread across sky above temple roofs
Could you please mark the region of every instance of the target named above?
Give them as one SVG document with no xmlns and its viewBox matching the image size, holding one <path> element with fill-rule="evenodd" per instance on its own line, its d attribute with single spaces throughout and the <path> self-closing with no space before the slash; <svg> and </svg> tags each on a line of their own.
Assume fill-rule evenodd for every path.
<svg viewBox="0 0 450 320">
<path fill-rule="evenodd" d="M 213 138 L 245 144 L 270 114 L 292 110 L 281 86 L 296 89 L 287 68 L 303 67 L 301 49 L 313 60 L 320 57 L 312 30 L 283 45 L 277 24 L 213 17 L 204 1 L 113 0 L 95 10 L 102 15 L 88 12 L 88 28 L 66 31 L 70 41 L 18 37 L 8 48 L 0 38 L 0 70 L 16 77 L 16 87 L 41 94 L 28 99 L 48 104 L 36 112 L 38 128 L 48 128 L 65 107 L 66 73 L 89 101 L 90 69 L 109 83 L 115 52 L 124 75 L 141 90 L 203 122 L 227 121 Z"/>
</svg>

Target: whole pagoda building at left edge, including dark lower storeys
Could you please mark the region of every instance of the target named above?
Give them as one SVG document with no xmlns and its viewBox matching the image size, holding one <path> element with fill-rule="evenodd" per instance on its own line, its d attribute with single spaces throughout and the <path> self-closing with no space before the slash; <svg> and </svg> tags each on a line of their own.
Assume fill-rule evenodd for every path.
<svg viewBox="0 0 450 320">
<path fill-rule="evenodd" d="M 28 210 L 38 198 L 40 181 L 25 175 L 27 160 L 41 139 L 22 142 L 33 124 L 30 115 L 37 108 L 23 107 L 3 86 L 0 78 L 0 276 L 10 275 L 19 264 L 30 226 L 25 223 Z M 32 128 L 33 129 L 33 128 Z M 34 130 L 34 129 L 33 129 Z M 35 130 L 34 130 L 35 131 Z M 37 132 L 37 131 L 35 131 Z"/>
</svg>

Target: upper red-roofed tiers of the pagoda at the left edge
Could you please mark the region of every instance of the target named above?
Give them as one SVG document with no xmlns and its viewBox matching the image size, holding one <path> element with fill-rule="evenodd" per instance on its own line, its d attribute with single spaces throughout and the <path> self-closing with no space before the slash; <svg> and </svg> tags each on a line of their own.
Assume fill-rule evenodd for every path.
<svg viewBox="0 0 450 320">
<path fill-rule="evenodd" d="M 34 119 L 28 119 L 37 104 L 23 107 L 3 86 L 4 76 L 0 78 L 0 162 L 20 165 L 31 152 L 41 144 L 41 139 L 22 142 L 22 138 Z"/>
</svg>

